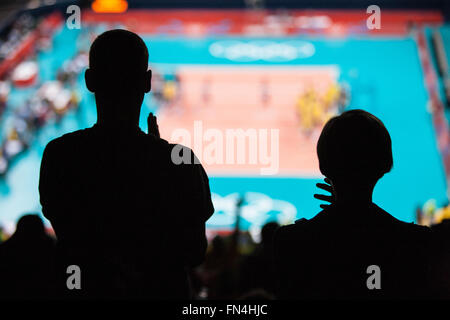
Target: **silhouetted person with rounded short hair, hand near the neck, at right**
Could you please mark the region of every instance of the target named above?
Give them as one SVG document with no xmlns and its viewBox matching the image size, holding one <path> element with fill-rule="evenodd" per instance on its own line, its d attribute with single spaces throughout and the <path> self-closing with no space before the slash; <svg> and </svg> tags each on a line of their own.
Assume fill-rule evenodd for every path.
<svg viewBox="0 0 450 320">
<path fill-rule="evenodd" d="M 317 154 L 333 200 L 314 218 L 278 229 L 278 296 L 427 295 L 429 228 L 399 221 L 372 202 L 375 184 L 393 165 L 391 138 L 383 123 L 363 110 L 344 112 L 323 128 Z M 379 273 L 369 268 L 373 265 Z"/>
</svg>

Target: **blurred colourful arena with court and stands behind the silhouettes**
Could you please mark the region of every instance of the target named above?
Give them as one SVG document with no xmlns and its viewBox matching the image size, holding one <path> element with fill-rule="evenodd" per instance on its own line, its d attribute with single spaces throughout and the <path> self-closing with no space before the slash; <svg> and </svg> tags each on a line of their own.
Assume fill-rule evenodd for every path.
<svg viewBox="0 0 450 320">
<path fill-rule="evenodd" d="M 162 137 L 189 145 L 205 165 L 211 239 L 240 230 L 245 250 L 264 225 L 317 214 L 318 136 L 330 117 L 354 108 L 379 117 L 392 137 L 394 168 L 374 202 L 408 222 L 450 218 L 450 3 L 376 4 L 380 28 L 370 29 L 372 3 L 362 0 L 3 0 L 0 239 L 22 215 L 41 215 L 46 144 L 95 123 L 84 70 L 93 39 L 113 28 L 138 33 L 149 48 L 142 130 L 156 113 Z M 229 129 L 248 134 L 243 161 L 212 147 L 211 134 L 218 145 L 236 142 Z"/>
</svg>

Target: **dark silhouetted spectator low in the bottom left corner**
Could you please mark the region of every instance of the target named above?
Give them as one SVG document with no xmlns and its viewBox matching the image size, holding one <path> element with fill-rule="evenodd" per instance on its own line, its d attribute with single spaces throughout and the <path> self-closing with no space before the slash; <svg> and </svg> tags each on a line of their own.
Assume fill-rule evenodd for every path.
<svg viewBox="0 0 450 320">
<path fill-rule="evenodd" d="M 42 299 L 54 295 L 55 242 L 35 214 L 22 216 L 0 245 L 0 297 Z"/>
</svg>

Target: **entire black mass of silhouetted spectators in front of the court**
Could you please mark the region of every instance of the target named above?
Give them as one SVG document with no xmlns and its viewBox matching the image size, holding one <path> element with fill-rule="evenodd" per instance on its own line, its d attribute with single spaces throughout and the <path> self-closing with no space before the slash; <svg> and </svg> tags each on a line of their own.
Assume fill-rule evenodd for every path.
<svg viewBox="0 0 450 320">
<path fill-rule="evenodd" d="M 244 250 L 240 199 L 234 231 L 208 245 L 205 170 L 192 150 L 160 137 L 152 114 L 148 133 L 138 126 L 148 58 L 129 31 L 92 44 L 85 79 L 97 123 L 47 145 L 39 192 L 55 237 L 39 215 L 20 218 L 0 245 L 2 298 L 450 298 L 450 222 L 405 223 L 372 202 L 394 159 L 388 130 L 363 110 L 330 119 L 321 133 L 326 179 L 317 186 L 329 193 L 314 195 L 326 202 L 321 212 L 268 222 Z M 73 265 L 78 288 L 68 286 Z"/>
</svg>

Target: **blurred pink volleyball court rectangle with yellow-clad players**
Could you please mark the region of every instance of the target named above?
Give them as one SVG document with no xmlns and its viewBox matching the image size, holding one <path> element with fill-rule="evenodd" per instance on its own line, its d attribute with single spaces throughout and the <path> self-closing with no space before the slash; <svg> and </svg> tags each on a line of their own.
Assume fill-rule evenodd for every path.
<svg viewBox="0 0 450 320">
<path fill-rule="evenodd" d="M 317 176 L 318 134 L 324 123 L 338 112 L 337 77 L 336 66 L 180 66 L 176 69 L 176 80 L 166 83 L 163 92 L 169 103 L 163 104 L 158 113 L 161 133 L 172 137 L 172 142 L 189 145 L 186 141 L 176 141 L 174 134 L 179 129 L 189 131 L 189 146 L 201 159 L 208 143 L 212 143 L 205 134 L 209 129 L 222 133 L 223 144 L 219 145 L 223 153 L 227 152 L 226 132 L 230 129 L 267 132 L 267 140 L 258 135 L 256 147 L 268 143 L 263 150 L 276 152 L 271 129 L 278 129 L 278 174 Z M 195 130 L 194 126 L 197 126 Z M 247 139 L 247 151 L 249 144 Z M 234 159 L 232 163 L 225 160 L 203 163 L 213 175 L 260 174 L 261 163 L 250 163 L 249 154 L 245 163 L 238 163 L 236 152 Z"/>
</svg>

